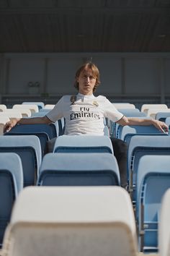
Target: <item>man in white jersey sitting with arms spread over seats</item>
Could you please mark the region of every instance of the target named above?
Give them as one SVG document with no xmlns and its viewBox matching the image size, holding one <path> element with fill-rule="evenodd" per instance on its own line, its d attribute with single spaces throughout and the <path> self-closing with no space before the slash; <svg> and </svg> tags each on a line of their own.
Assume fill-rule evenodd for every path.
<svg viewBox="0 0 170 256">
<path fill-rule="evenodd" d="M 15 119 L 6 123 L 8 132 L 16 124 L 50 124 L 62 117 L 66 120 L 65 135 L 104 135 L 104 118 L 124 125 L 151 125 L 164 132 L 168 127 L 155 119 L 138 119 L 123 116 L 104 96 L 94 96 L 99 85 L 99 69 L 91 62 L 82 65 L 76 72 L 77 95 L 65 95 L 46 116 L 30 119 Z M 127 183 L 127 146 L 122 140 L 112 138 L 112 145 L 120 168 L 122 187 Z"/>
</svg>

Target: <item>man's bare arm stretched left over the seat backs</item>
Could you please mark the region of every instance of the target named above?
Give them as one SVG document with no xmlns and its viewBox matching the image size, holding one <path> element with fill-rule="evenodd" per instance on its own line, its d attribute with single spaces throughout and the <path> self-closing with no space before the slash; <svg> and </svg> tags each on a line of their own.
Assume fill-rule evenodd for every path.
<svg viewBox="0 0 170 256">
<path fill-rule="evenodd" d="M 4 132 L 9 132 L 16 124 L 50 124 L 51 122 L 47 116 L 12 119 L 4 125 Z"/>
</svg>

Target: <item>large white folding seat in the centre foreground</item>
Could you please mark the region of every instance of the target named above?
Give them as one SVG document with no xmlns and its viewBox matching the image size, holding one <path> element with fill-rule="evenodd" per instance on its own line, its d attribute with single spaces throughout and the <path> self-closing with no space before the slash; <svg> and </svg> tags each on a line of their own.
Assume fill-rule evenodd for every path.
<svg viewBox="0 0 170 256">
<path fill-rule="evenodd" d="M 128 192 L 121 187 L 27 187 L 14 205 L 3 250 L 6 256 L 137 256 Z"/>
</svg>

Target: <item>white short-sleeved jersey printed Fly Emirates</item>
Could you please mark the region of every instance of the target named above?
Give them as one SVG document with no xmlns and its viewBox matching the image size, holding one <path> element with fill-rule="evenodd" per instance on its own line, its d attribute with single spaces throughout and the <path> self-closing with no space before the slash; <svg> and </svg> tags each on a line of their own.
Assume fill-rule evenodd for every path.
<svg viewBox="0 0 170 256">
<path fill-rule="evenodd" d="M 73 98 L 63 96 L 46 115 L 53 122 L 65 118 L 65 135 L 104 135 L 104 118 L 115 122 L 123 116 L 104 96 L 79 93 Z"/>
</svg>

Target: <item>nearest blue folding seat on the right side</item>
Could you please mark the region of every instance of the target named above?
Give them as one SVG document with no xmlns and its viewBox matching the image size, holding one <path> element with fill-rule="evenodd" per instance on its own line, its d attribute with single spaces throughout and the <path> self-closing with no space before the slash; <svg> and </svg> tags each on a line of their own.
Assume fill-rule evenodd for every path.
<svg viewBox="0 0 170 256">
<path fill-rule="evenodd" d="M 158 252 L 161 200 L 170 188 L 170 155 L 143 155 L 136 177 L 136 221 L 143 252 Z"/>
</svg>

